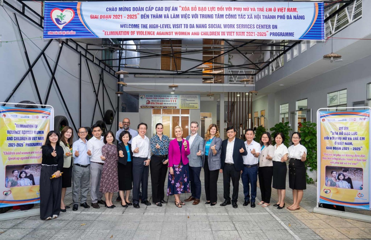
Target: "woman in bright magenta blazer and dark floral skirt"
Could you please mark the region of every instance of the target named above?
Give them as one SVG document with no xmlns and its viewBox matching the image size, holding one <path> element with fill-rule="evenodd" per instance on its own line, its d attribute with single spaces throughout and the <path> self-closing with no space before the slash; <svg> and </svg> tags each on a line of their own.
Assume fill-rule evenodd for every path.
<svg viewBox="0 0 371 240">
<path fill-rule="evenodd" d="M 181 126 L 174 128 L 177 138 L 170 141 L 169 145 L 169 177 L 167 182 L 167 195 L 174 195 L 175 206 L 185 205 L 180 201 L 181 193 L 190 193 L 189 175 L 188 175 L 188 155 L 189 142 L 182 138 L 183 129 Z"/>
</svg>

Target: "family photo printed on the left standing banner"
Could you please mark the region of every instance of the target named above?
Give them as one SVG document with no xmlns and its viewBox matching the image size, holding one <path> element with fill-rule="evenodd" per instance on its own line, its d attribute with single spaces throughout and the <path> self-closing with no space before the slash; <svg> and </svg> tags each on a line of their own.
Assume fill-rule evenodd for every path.
<svg viewBox="0 0 371 240">
<path fill-rule="evenodd" d="M 5 187 L 40 185 L 41 164 L 7 165 L 5 167 Z"/>
</svg>

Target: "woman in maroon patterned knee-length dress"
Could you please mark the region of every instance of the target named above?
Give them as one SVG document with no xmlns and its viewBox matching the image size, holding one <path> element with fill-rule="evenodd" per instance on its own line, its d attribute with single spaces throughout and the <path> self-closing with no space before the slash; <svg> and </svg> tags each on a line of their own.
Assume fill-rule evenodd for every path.
<svg viewBox="0 0 371 240">
<path fill-rule="evenodd" d="M 118 152 L 116 145 L 114 145 L 114 133 L 107 131 L 104 134 L 103 142 L 105 145 L 102 147 L 101 159 L 104 161 L 104 165 L 99 191 L 104 193 L 104 197 L 106 198 L 105 206 L 114 208 L 116 206 L 112 204 L 112 197 L 114 193 L 118 192 Z"/>
</svg>

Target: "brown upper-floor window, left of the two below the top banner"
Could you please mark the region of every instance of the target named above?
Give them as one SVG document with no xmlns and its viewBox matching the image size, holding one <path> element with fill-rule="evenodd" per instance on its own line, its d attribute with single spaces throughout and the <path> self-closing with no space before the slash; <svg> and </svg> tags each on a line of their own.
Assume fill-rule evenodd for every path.
<svg viewBox="0 0 371 240">
<path fill-rule="evenodd" d="M 180 71 L 181 40 L 161 40 L 161 70 Z M 174 57 L 175 56 L 175 57 Z"/>
</svg>

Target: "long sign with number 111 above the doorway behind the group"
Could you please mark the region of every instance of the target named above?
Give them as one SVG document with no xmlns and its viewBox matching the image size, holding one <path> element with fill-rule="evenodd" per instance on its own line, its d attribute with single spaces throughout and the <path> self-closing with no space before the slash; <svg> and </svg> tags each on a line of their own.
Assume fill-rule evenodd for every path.
<svg viewBox="0 0 371 240">
<path fill-rule="evenodd" d="M 139 95 L 139 108 L 200 109 L 200 95 Z"/>
</svg>

